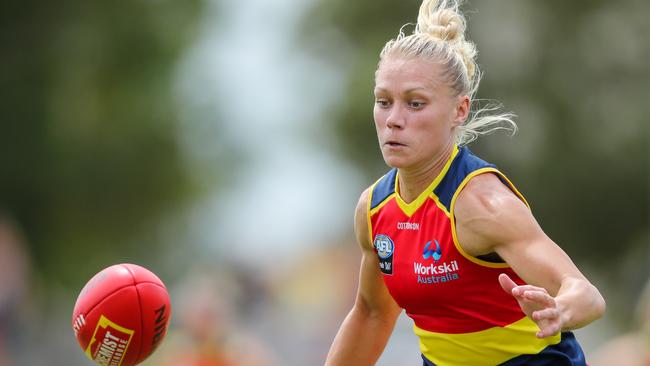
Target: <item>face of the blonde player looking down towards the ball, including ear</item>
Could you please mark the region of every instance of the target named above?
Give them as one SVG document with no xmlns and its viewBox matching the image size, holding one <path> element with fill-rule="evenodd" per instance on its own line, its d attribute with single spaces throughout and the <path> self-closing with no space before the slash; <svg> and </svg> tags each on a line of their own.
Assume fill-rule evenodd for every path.
<svg viewBox="0 0 650 366">
<path fill-rule="evenodd" d="M 436 63 L 388 57 L 375 74 L 374 118 L 381 153 L 391 167 L 426 168 L 454 143 L 469 113 L 469 97 L 455 96 Z"/>
</svg>

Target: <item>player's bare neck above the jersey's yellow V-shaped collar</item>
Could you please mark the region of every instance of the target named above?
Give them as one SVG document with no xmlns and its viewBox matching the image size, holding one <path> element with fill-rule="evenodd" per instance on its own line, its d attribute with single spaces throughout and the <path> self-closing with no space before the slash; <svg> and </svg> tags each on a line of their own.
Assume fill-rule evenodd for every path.
<svg viewBox="0 0 650 366">
<path fill-rule="evenodd" d="M 399 195 L 406 203 L 413 202 L 440 174 L 454 150 L 451 142 L 438 155 L 424 164 L 399 169 Z"/>
</svg>

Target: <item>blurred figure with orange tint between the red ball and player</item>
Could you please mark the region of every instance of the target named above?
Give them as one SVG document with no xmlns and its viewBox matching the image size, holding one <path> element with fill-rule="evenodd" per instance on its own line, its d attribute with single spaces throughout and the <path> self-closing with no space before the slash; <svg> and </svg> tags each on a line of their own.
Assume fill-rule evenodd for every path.
<svg viewBox="0 0 650 366">
<path fill-rule="evenodd" d="M 241 329 L 241 281 L 232 271 L 197 270 L 173 294 L 173 324 L 152 364 L 272 366 L 265 343 Z"/>
</svg>

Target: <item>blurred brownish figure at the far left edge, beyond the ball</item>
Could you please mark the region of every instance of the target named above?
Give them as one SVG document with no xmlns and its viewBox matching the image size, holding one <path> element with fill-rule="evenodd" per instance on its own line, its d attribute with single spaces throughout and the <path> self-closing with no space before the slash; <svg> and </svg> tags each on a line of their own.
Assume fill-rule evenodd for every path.
<svg viewBox="0 0 650 366">
<path fill-rule="evenodd" d="M 26 299 L 29 259 L 16 224 L 0 212 L 0 366 L 15 364 L 21 329 L 19 311 Z"/>
</svg>

